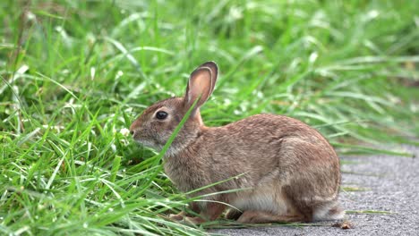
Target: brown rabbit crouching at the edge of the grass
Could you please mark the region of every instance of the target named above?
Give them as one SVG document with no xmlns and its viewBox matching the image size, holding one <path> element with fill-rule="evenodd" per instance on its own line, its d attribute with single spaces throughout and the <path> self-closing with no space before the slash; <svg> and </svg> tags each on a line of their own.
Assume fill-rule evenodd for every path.
<svg viewBox="0 0 419 236">
<path fill-rule="evenodd" d="M 151 105 L 130 127 L 133 139 L 161 150 L 199 99 L 165 154 L 165 171 L 185 192 L 224 181 L 193 196 L 242 190 L 193 202 L 192 210 L 200 215 L 186 220 L 212 221 L 228 206 L 234 207 L 226 217 L 240 223 L 342 219 L 345 213 L 337 200 L 339 160 L 329 142 L 304 122 L 275 114 L 256 114 L 221 127 L 205 126 L 200 107 L 217 78 L 216 63 L 201 64 L 192 72 L 184 97 Z M 181 220 L 185 215 L 170 217 Z"/>
</svg>

